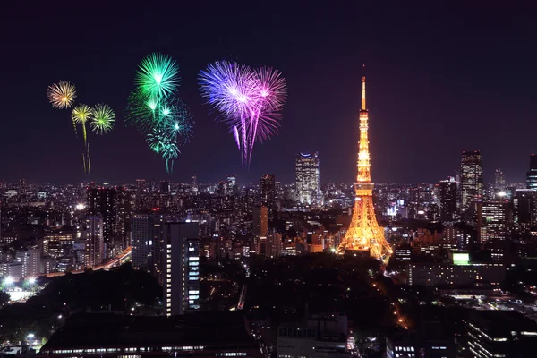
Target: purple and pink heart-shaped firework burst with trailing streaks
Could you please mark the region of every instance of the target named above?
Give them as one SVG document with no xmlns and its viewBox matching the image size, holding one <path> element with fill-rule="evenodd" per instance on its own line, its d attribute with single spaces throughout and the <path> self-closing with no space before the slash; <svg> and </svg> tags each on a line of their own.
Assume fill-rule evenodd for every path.
<svg viewBox="0 0 537 358">
<path fill-rule="evenodd" d="M 230 127 L 241 152 L 241 162 L 250 165 L 256 140 L 277 132 L 279 111 L 286 100 L 286 80 L 271 67 L 251 67 L 218 61 L 199 76 L 201 96 L 221 113 L 218 121 Z"/>
</svg>

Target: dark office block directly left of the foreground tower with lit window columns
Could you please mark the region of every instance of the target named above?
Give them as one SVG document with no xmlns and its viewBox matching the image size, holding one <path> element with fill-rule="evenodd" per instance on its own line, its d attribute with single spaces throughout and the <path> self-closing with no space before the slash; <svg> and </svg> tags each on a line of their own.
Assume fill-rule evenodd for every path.
<svg viewBox="0 0 537 358">
<path fill-rule="evenodd" d="M 162 282 L 162 223 L 159 212 L 132 215 L 132 268 L 150 272 Z"/>
</svg>

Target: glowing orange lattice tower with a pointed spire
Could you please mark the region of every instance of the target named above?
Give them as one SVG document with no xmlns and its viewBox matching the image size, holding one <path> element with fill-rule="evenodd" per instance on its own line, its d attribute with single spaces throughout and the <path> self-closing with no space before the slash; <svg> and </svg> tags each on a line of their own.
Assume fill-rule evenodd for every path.
<svg viewBox="0 0 537 358">
<path fill-rule="evenodd" d="M 384 230 L 377 223 L 373 207 L 373 186 L 369 153 L 368 111 L 365 107 L 365 76 L 362 77 L 362 109 L 360 110 L 360 142 L 358 145 L 358 176 L 354 184 L 353 220 L 337 253 L 367 252 L 371 257 L 387 261 L 392 253 L 384 238 Z"/>
</svg>

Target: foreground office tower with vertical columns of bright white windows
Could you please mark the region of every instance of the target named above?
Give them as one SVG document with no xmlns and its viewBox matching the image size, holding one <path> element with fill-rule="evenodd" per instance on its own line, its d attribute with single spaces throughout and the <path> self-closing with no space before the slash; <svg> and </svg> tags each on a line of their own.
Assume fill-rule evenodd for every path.
<svg viewBox="0 0 537 358">
<path fill-rule="evenodd" d="M 200 239 L 198 223 L 162 226 L 166 316 L 200 308 Z"/>
</svg>

